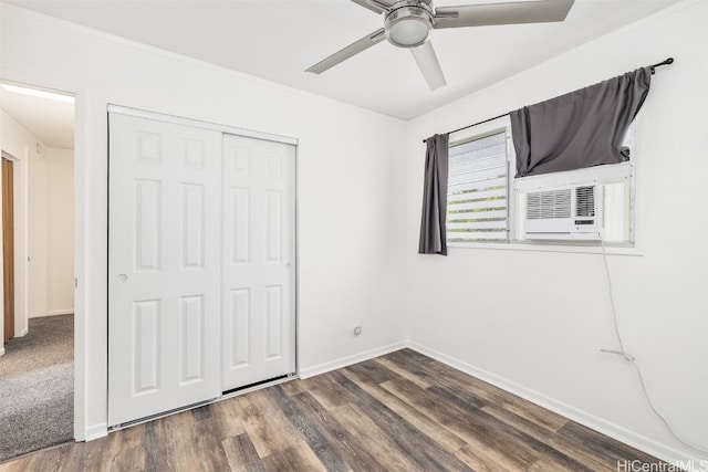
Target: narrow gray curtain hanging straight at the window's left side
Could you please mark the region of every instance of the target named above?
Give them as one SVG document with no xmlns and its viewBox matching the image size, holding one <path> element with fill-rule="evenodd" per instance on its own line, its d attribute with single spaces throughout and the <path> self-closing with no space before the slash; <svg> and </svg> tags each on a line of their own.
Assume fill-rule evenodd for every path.
<svg viewBox="0 0 708 472">
<path fill-rule="evenodd" d="M 447 175 L 449 135 L 435 135 L 426 141 L 423 217 L 419 254 L 447 255 Z"/>
</svg>

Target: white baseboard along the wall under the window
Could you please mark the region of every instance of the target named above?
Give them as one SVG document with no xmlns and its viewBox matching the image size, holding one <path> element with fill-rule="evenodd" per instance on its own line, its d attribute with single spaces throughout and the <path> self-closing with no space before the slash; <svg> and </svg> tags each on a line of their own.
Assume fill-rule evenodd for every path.
<svg viewBox="0 0 708 472">
<path fill-rule="evenodd" d="M 420 354 L 425 354 L 426 356 L 433 357 L 434 359 L 439 360 L 440 363 L 444 363 L 457 370 L 464 371 L 465 374 L 499 387 L 510 394 L 517 395 L 524 400 L 529 400 L 532 403 L 551 410 L 590 429 L 601 432 L 610 438 L 616 439 L 620 442 L 624 442 L 625 444 L 644 451 L 647 454 L 654 455 L 655 458 L 666 461 L 669 464 L 708 463 L 706 461 L 706 458 L 689 454 L 685 451 L 680 451 L 670 445 L 660 443 L 650 438 L 638 434 L 635 431 L 631 431 L 624 427 L 606 421 L 586 411 L 579 410 L 575 407 L 566 405 L 562 401 L 558 401 L 535 390 L 508 380 L 503 377 L 499 377 L 490 371 L 480 369 L 476 366 L 456 359 L 455 357 L 448 356 L 446 354 L 439 353 L 435 349 L 430 349 L 414 342 L 407 343 L 407 347 L 417 350 Z"/>
</svg>

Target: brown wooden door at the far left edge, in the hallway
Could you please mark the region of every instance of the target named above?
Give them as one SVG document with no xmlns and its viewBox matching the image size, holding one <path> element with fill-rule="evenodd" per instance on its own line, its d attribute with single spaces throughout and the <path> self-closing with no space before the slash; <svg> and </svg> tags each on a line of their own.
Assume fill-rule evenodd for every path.
<svg viewBox="0 0 708 472">
<path fill-rule="evenodd" d="M 3 342 L 14 337 L 14 172 L 2 158 Z"/>
</svg>

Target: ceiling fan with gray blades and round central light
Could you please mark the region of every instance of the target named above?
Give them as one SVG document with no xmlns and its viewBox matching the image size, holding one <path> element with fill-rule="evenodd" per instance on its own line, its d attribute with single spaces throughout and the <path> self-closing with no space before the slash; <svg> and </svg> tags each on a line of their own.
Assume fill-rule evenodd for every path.
<svg viewBox="0 0 708 472">
<path fill-rule="evenodd" d="M 317 62 L 306 72 L 321 74 L 383 40 L 388 40 L 395 46 L 410 50 L 431 91 L 446 85 L 442 69 L 429 39 L 433 30 L 563 21 L 574 2 L 532 0 L 434 8 L 433 0 L 352 1 L 377 14 L 385 13 L 384 28 Z"/>
</svg>

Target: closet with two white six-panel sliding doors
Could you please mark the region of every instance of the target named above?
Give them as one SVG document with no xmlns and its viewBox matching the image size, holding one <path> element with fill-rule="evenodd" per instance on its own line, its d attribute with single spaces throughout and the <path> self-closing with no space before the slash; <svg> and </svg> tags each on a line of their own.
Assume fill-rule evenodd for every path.
<svg viewBox="0 0 708 472">
<path fill-rule="evenodd" d="M 294 373 L 296 143 L 108 112 L 108 427 Z"/>
</svg>

